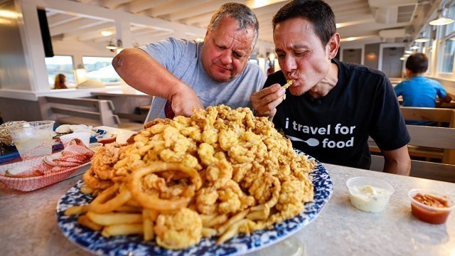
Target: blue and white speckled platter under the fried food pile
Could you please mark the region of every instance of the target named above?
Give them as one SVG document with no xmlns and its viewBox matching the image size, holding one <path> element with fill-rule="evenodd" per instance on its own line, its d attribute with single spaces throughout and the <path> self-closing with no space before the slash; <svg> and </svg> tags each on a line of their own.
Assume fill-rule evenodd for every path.
<svg viewBox="0 0 455 256">
<path fill-rule="evenodd" d="M 302 154 L 300 151 L 297 153 Z M 309 157 L 309 159 L 313 158 Z M 156 245 L 156 242 L 142 241 L 140 235 L 104 238 L 99 232 L 79 225 L 75 215 L 63 215 L 63 212 L 71 206 L 85 205 L 92 201 L 92 196 L 80 191 L 82 180 L 58 201 L 58 225 L 63 235 L 71 242 L 96 255 L 240 255 L 284 240 L 311 223 L 321 213 L 332 196 L 333 184 L 324 166 L 317 160 L 316 163 L 316 167 L 310 174 L 314 184 L 314 201 L 306 203 L 305 209 L 299 215 L 275 224 L 271 230 L 259 230 L 251 235 L 240 234 L 221 245 L 215 244 L 217 238 L 203 238 L 198 245 L 185 250 L 166 250 Z"/>
</svg>

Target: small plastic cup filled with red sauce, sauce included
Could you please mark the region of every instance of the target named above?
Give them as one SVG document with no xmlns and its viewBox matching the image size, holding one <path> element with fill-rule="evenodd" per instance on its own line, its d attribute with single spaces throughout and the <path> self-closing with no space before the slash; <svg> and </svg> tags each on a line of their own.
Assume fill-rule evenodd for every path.
<svg viewBox="0 0 455 256">
<path fill-rule="evenodd" d="M 452 198 L 436 191 L 414 188 L 407 195 L 411 200 L 412 215 L 426 223 L 445 223 L 451 210 L 455 208 Z"/>
</svg>

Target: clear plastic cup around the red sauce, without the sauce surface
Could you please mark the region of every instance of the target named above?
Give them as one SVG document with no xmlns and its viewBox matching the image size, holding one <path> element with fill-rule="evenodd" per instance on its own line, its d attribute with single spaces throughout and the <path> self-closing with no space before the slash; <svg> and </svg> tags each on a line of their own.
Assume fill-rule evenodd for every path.
<svg viewBox="0 0 455 256">
<path fill-rule="evenodd" d="M 414 199 L 414 196 L 416 196 L 417 193 L 432 196 L 433 198 L 438 198 L 442 202 L 445 202 L 445 205 L 447 207 L 439 208 L 434 206 L 427 206 L 426 204 L 421 203 Z M 407 195 L 410 197 L 411 200 L 412 215 L 426 223 L 432 224 L 445 223 L 451 213 L 451 210 L 455 208 L 455 203 L 452 198 L 441 193 L 437 193 L 436 191 L 414 188 L 411 189 L 407 193 Z"/>
</svg>

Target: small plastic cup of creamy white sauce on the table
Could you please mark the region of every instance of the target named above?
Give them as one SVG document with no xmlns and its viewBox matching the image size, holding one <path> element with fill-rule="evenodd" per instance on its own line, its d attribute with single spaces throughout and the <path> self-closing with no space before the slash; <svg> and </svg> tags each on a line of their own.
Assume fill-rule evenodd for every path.
<svg viewBox="0 0 455 256">
<path fill-rule="evenodd" d="M 346 181 L 350 203 L 368 213 L 385 210 L 390 196 L 395 191 L 389 183 L 370 177 L 353 177 Z"/>
</svg>

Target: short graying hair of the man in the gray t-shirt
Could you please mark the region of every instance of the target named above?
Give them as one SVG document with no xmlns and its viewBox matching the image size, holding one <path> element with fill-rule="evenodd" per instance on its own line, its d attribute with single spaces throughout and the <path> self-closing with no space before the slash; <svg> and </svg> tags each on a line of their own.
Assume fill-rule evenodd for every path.
<svg viewBox="0 0 455 256">
<path fill-rule="evenodd" d="M 223 4 L 210 19 L 210 23 L 207 28 L 209 31 L 213 30 L 220 23 L 221 18 L 232 17 L 239 23 L 239 29 L 244 28 L 245 30 L 253 28 L 255 32 L 255 40 L 253 41 L 252 47 L 257 42 L 257 36 L 259 35 L 259 22 L 257 21 L 255 13 L 246 6 L 245 4 L 228 3 Z"/>
</svg>

